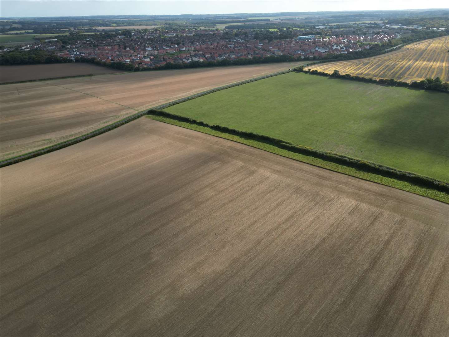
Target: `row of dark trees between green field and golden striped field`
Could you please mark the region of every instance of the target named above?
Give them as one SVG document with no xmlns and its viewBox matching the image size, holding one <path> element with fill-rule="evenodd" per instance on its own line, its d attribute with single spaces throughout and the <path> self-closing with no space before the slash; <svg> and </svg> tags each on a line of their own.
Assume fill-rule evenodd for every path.
<svg viewBox="0 0 449 337">
<path fill-rule="evenodd" d="M 434 79 L 432 78 L 427 78 L 425 80 L 421 80 L 419 82 L 417 81 L 413 81 L 412 83 L 408 83 L 408 82 L 404 82 L 404 81 L 398 81 L 395 79 L 373 79 L 370 77 L 363 77 L 363 76 L 358 76 L 358 75 L 350 75 L 350 74 L 345 74 L 342 75 L 340 74 L 340 71 L 338 70 L 334 70 L 334 72 L 332 74 L 329 74 L 325 71 L 318 71 L 318 70 L 304 70 L 304 66 L 299 66 L 295 68 L 295 71 L 298 72 L 305 72 L 308 74 L 313 74 L 313 75 L 320 75 L 320 76 L 332 76 L 332 77 L 337 77 L 337 78 L 342 78 L 342 79 L 347 79 L 347 80 L 355 80 L 355 81 L 360 81 L 360 82 L 369 82 L 369 83 L 379 83 L 379 84 L 388 84 L 388 85 L 394 85 L 396 87 L 410 87 L 410 88 L 419 88 L 419 89 L 427 89 L 427 90 L 436 90 L 436 91 L 442 91 L 442 92 L 449 92 L 449 83 L 448 82 L 444 82 L 440 79 L 440 77 L 436 77 Z"/>
</svg>

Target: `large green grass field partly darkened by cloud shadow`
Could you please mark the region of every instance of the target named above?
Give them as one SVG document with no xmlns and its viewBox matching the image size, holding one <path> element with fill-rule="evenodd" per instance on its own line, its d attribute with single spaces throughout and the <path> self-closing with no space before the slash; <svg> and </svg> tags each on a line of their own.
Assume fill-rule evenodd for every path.
<svg viewBox="0 0 449 337">
<path fill-rule="evenodd" d="M 449 181 L 449 95 L 304 73 L 164 109 Z"/>
</svg>

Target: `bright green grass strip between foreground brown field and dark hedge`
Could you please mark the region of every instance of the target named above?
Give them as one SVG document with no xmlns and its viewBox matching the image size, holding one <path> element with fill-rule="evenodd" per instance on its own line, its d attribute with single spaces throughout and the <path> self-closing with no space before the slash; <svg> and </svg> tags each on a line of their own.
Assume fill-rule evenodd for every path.
<svg viewBox="0 0 449 337">
<path fill-rule="evenodd" d="M 199 131 L 202 133 L 207 133 L 207 134 L 210 134 L 210 135 L 213 135 L 216 137 L 229 139 L 234 142 L 239 142 L 242 144 L 253 146 L 255 148 L 259 148 L 264 151 L 272 152 L 277 155 L 282 155 L 284 157 L 291 158 L 294 160 L 302 161 L 307 164 L 312 164 L 314 166 L 326 168 L 326 169 L 329 169 L 329 170 L 332 170 L 335 172 L 347 174 L 347 175 L 361 178 L 364 180 L 368 180 L 371 182 L 377 182 L 382 185 L 395 187 L 400 190 L 408 191 L 408 192 L 418 194 L 418 195 L 423 195 L 428 198 L 439 200 L 441 202 L 449 204 L 449 194 L 442 192 L 442 191 L 436 191 L 435 189 L 418 186 L 418 185 L 412 184 L 410 182 L 401 181 L 401 180 L 394 179 L 391 177 L 385 177 L 380 174 L 366 172 L 366 171 L 363 171 L 358 168 L 352 168 L 352 167 L 348 167 L 348 166 L 345 166 L 342 164 L 333 163 L 333 162 L 323 160 L 320 158 L 316 158 L 316 157 L 313 157 L 310 155 L 303 155 L 303 154 L 299 154 L 296 152 L 288 151 L 288 150 L 279 148 L 278 146 L 269 144 L 267 142 L 261 142 L 261 141 L 255 140 L 255 139 L 250 139 L 247 137 L 242 137 L 242 136 L 238 136 L 238 135 L 234 135 L 234 134 L 230 134 L 230 133 L 225 133 L 222 131 L 217 131 L 217 130 L 211 129 L 210 127 L 197 125 L 197 124 L 189 123 L 189 122 L 184 122 L 184 121 L 180 121 L 180 120 L 176 120 L 173 118 L 160 116 L 160 115 L 148 115 L 147 117 L 151 118 L 153 120 L 158 120 L 160 122 L 177 125 L 177 126 L 180 126 L 180 127 L 186 128 L 186 129 L 191 129 L 191 130 Z"/>
</svg>

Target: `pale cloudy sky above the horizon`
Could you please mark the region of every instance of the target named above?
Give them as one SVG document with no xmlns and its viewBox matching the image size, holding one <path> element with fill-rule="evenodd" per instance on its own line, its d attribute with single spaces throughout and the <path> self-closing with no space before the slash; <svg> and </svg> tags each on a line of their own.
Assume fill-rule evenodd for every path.
<svg viewBox="0 0 449 337">
<path fill-rule="evenodd" d="M 0 0 L 0 17 L 447 8 L 445 0 Z"/>
</svg>

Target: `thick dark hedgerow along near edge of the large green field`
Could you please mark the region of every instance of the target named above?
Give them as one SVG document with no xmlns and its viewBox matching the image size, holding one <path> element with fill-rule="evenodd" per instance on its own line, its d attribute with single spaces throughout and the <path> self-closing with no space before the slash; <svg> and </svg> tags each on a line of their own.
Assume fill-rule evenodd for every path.
<svg viewBox="0 0 449 337">
<path fill-rule="evenodd" d="M 202 121 L 194 120 L 189 117 L 175 115 L 175 114 L 169 113 L 167 111 L 163 111 L 163 110 L 153 110 L 152 109 L 152 110 L 148 111 L 148 114 L 168 117 L 168 118 L 172 118 L 174 120 L 179 120 L 182 122 L 188 122 L 191 124 L 205 126 L 205 127 L 217 130 L 217 131 L 221 131 L 221 132 L 225 132 L 225 133 L 229 133 L 229 134 L 233 134 L 233 135 L 237 135 L 237 136 L 241 136 L 241 137 L 247 137 L 247 138 L 255 139 L 255 140 L 258 140 L 261 142 L 267 142 L 267 143 L 270 143 L 271 145 L 277 146 L 284 150 L 288 150 L 288 151 L 292 151 L 292 152 L 296 152 L 296 153 L 304 154 L 304 155 L 311 155 L 316 158 L 328 160 L 328 161 L 331 161 L 331 162 L 334 162 L 337 164 L 343 164 L 343 165 L 350 166 L 353 168 L 358 168 L 365 172 L 376 173 L 379 175 L 383 175 L 385 177 L 391 177 L 391 178 L 395 178 L 398 180 L 411 182 L 415 185 L 432 188 L 437 191 L 442 191 L 442 192 L 446 192 L 446 193 L 449 192 L 449 183 L 448 182 L 443 182 L 443 181 L 440 181 L 435 178 L 426 177 L 426 176 L 412 173 L 412 172 L 398 170 L 396 168 L 392 168 L 392 167 L 385 166 L 382 164 L 376 164 L 376 163 L 373 163 L 370 161 L 352 158 L 347 155 L 341 155 L 339 153 L 320 151 L 320 150 L 316 150 L 316 149 L 313 149 L 312 147 L 308 147 L 308 146 L 295 145 L 291 142 L 286 142 L 282 139 L 269 137 L 269 136 L 261 135 L 258 133 L 230 129 L 228 127 L 221 126 L 221 125 L 210 125 L 210 124 L 207 124 Z"/>
</svg>

